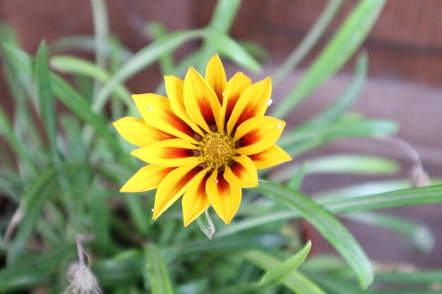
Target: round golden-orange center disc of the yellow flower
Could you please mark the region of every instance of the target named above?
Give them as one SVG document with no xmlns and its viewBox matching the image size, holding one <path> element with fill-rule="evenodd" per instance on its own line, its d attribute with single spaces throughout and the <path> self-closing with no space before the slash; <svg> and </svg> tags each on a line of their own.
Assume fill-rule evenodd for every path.
<svg viewBox="0 0 442 294">
<path fill-rule="evenodd" d="M 220 133 L 205 135 L 201 140 L 200 152 L 204 163 L 212 169 L 229 165 L 236 154 L 232 138 Z"/>
</svg>

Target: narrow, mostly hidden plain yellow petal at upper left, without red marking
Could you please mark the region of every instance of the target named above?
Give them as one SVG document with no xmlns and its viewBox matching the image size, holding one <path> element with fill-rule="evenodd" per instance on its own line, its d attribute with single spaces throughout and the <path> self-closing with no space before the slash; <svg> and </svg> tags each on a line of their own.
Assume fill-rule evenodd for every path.
<svg viewBox="0 0 442 294">
<path fill-rule="evenodd" d="M 167 92 L 167 97 L 169 97 L 170 108 L 181 120 L 185 121 L 190 127 L 196 132 L 201 133 L 201 129 L 198 128 L 196 123 L 193 123 L 191 118 L 186 113 L 184 108 L 184 80 L 175 77 L 174 75 L 165 75 L 165 87 Z"/>
</svg>

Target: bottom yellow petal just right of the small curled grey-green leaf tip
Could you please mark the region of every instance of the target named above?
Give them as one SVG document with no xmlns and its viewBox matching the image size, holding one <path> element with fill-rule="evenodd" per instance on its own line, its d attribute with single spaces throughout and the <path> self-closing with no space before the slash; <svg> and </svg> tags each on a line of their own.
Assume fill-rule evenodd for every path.
<svg viewBox="0 0 442 294">
<path fill-rule="evenodd" d="M 222 221 L 229 224 L 241 204 L 241 188 L 227 182 L 215 169 L 205 184 L 205 192 L 215 212 Z"/>
</svg>

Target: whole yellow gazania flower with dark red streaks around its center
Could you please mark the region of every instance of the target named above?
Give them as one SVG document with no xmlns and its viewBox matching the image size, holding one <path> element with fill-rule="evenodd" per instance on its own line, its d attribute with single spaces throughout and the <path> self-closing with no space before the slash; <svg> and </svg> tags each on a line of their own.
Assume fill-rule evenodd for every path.
<svg viewBox="0 0 442 294">
<path fill-rule="evenodd" d="M 189 68 L 184 81 L 165 76 L 165 85 L 167 97 L 133 94 L 143 118 L 114 123 L 121 136 L 139 147 L 131 154 L 148 164 L 121 192 L 157 188 L 153 219 L 184 195 L 184 226 L 210 205 L 229 223 L 241 203 L 241 188 L 258 185 L 257 170 L 291 159 L 275 145 L 285 122 L 264 116 L 271 80 L 252 84 L 236 73 L 227 81 L 215 54 L 205 78 Z"/>
</svg>

